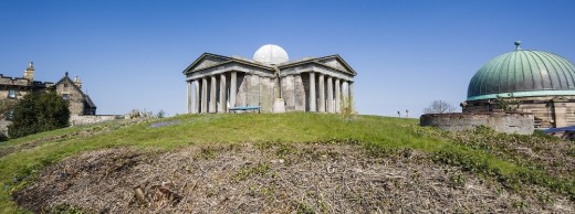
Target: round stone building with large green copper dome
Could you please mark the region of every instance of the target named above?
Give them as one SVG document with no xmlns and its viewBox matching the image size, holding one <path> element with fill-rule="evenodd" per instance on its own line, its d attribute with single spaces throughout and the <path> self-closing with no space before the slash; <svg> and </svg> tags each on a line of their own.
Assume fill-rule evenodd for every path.
<svg viewBox="0 0 575 214">
<path fill-rule="evenodd" d="M 515 42 L 515 51 L 494 57 L 473 75 L 463 111 L 493 111 L 501 108 L 498 98 L 512 98 L 519 111 L 534 115 L 536 127 L 575 125 L 575 65 L 520 45 Z"/>
</svg>

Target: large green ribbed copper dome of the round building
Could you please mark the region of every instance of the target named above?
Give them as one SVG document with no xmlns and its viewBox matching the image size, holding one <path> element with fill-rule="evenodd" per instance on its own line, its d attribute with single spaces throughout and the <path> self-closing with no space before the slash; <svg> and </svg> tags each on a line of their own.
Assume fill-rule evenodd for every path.
<svg viewBox="0 0 575 214">
<path fill-rule="evenodd" d="M 496 56 L 471 78 L 468 100 L 493 99 L 498 96 L 575 95 L 575 65 L 556 54 L 521 50 Z"/>
</svg>

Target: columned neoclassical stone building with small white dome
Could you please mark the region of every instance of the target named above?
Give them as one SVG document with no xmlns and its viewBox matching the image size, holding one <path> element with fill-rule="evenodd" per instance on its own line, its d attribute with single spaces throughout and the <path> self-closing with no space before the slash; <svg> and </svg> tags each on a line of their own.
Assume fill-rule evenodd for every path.
<svg viewBox="0 0 575 214">
<path fill-rule="evenodd" d="M 182 73 L 187 111 L 195 114 L 248 106 L 263 113 L 337 113 L 349 105 L 356 75 L 339 55 L 289 61 L 273 44 L 260 47 L 253 60 L 203 53 Z"/>
</svg>

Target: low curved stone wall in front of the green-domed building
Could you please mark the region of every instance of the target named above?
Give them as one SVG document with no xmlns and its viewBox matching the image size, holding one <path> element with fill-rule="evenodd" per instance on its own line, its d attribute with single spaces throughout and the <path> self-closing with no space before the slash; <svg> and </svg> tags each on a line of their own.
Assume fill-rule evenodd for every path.
<svg viewBox="0 0 575 214">
<path fill-rule="evenodd" d="M 499 132 L 531 135 L 534 117 L 531 114 L 427 114 L 419 118 L 420 126 L 437 127 L 448 131 L 475 129 L 484 125 Z"/>
</svg>

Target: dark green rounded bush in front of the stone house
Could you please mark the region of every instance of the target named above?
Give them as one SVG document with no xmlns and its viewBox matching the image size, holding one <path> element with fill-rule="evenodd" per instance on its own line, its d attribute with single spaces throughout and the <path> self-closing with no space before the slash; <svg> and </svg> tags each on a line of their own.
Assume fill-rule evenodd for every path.
<svg viewBox="0 0 575 214">
<path fill-rule="evenodd" d="M 27 94 L 13 108 L 8 135 L 19 138 L 70 126 L 69 101 L 55 92 Z"/>
</svg>

